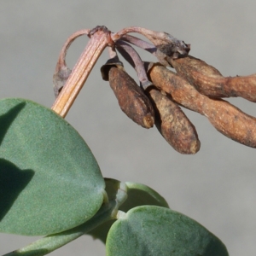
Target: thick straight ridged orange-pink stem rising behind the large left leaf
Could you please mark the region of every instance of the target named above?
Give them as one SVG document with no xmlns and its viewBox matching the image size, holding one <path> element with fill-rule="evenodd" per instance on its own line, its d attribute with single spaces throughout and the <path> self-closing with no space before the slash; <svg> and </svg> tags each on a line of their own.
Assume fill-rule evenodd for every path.
<svg viewBox="0 0 256 256">
<path fill-rule="evenodd" d="M 106 31 L 98 30 L 91 35 L 89 43 L 86 45 L 82 55 L 79 57 L 79 61 L 73 68 L 73 72 L 68 77 L 67 83 L 51 108 L 55 113 L 58 113 L 63 118 L 67 115 L 90 71 L 107 45 L 108 33 Z"/>
</svg>

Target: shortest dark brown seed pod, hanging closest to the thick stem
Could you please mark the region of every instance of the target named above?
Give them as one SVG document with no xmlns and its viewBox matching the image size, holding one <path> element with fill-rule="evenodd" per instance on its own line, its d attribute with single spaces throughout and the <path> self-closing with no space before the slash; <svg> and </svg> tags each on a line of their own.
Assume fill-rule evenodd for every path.
<svg viewBox="0 0 256 256">
<path fill-rule="evenodd" d="M 154 108 L 134 79 L 119 67 L 109 69 L 108 79 L 123 112 L 138 125 L 153 127 Z"/>
</svg>

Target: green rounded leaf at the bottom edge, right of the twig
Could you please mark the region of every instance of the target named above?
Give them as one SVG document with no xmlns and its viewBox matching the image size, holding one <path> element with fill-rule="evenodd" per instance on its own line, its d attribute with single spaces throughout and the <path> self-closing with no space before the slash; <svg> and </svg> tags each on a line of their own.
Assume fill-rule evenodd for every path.
<svg viewBox="0 0 256 256">
<path fill-rule="evenodd" d="M 108 256 L 228 255 L 224 244 L 195 220 L 154 206 L 133 208 L 117 220 L 108 232 L 106 248 Z"/>
</svg>

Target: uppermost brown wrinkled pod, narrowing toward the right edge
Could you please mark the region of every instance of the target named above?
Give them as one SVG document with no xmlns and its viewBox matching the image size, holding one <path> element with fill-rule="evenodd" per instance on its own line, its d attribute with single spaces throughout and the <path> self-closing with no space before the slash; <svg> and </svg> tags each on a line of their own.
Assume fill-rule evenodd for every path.
<svg viewBox="0 0 256 256">
<path fill-rule="evenodd" d="M 236 97 L 256 102 L 256 74 L 246 77 L 225 78 L 215 67 L 188 55 L 180 59 L 168 59 L 184 79 L 206 96 Z"/>
</svg>

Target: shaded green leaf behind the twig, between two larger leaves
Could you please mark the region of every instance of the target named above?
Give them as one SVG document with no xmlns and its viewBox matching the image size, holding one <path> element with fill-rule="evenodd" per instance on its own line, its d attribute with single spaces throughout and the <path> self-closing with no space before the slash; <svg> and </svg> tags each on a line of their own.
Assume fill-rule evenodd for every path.
<svg viewBox="0 0 256 256">
<path fill-rule="evenodd" d="M 150 189 L 148 186 L 141 183 L 121 183 L 113 178 L 105 178 L 105 183 L 109 201 L 116 200 L 119 187 L 126 187 L 125 192 L 127 194 L 127 199 L 119 207 L 119 210 L 123 212 L 129 211 L 133 207 L 143 205 L 168 207 L 167 202 L 161 195 L 154 191 L 154 189 Z M 108 231 L 114 222 L 115 219 L 108 220 L 108 222 L 101 224 L 94 230 L 91 230 L 88 235 L 91 235 L 94 238 L 100 239 L 106 243 Z"/>
</svg>

